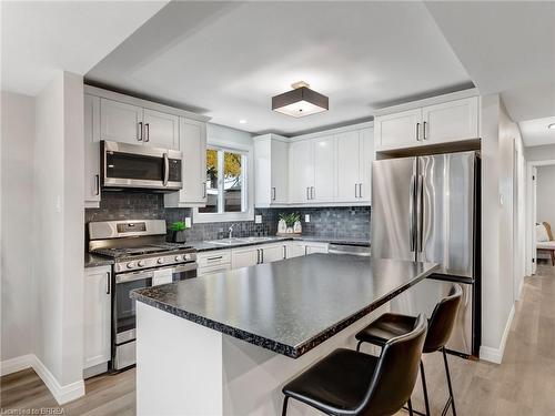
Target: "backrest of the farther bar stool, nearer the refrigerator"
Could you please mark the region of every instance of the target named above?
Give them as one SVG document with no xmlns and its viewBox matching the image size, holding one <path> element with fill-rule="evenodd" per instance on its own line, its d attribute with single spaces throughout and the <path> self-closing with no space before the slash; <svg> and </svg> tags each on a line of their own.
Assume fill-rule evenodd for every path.
<svg viewBox="0 0 555 416">
<path fill-rule="evenodd" d="M 453 327 L 455 326 L 456 314 L 462 298 L 463 290 L 461 285 L 454 284 L 448 296 L 444 297 L 435 305 L 434 312 L 428 321 L 424 353 L 433 353 L 447 344 Z"/>
</svg>

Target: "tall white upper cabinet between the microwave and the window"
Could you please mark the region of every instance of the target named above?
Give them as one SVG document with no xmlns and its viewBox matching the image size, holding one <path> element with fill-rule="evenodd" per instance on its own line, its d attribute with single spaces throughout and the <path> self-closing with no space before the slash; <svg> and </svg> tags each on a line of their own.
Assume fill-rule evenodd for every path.
<svg viewBox="0 0 555 416">
<path fill-rule="evenodd" d="M 165 207 L 206 204 L 206 123 L 180 118 L 179 150 L 183 153 L 183 187 L 164 194 Z"/>
</svg>

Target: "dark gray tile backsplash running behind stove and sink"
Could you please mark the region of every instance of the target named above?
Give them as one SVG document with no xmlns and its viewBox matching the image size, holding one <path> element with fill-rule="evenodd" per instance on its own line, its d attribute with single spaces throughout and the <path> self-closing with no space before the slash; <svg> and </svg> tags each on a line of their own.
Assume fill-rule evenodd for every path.
<svg viewBox="0 0 555 416">
<path fill-rule="evenodd" d="M 216 240 L 228 236 L 231 224 L 234 236 L 275 235 L 280 213 L 301 215 L 303 234 L 329 237 L 370 239 L 370 206 L 256 209 L 262 224 L 254 221 L 199 223 L 185 231 L 188 241 Z M 310 214 L 310 223 L 304 222 Z M 99 209 L 85 209 L 85 222 L 112 220 L 165 220 L 168 223 L 192 216 L 191 209 L 165 209 L 162 194 L 141 192 L 102 193 Z"/>
</svg>

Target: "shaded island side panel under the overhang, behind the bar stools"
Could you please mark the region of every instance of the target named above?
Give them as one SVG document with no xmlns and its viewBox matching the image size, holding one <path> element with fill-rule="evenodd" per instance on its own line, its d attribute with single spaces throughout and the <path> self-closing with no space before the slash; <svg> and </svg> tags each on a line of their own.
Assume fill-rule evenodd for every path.
<svg viewBox="0 0 555 416">
<path fill-rule="evenodd" d="M 335 348 L 356 348 L 354 335 L 381 314 L 385 304 L 345 329 L 324 341 L 299 358 L 261 348 L 244 341 L 223 336 L 223 408 L 224 415 L 281 415 L 283 385 Z M 380 348 L 363 345 L 363 352 L 379 354 Z M 322 415 L 322 413 L 290 400 L 287 415 Z"/>
</svg>

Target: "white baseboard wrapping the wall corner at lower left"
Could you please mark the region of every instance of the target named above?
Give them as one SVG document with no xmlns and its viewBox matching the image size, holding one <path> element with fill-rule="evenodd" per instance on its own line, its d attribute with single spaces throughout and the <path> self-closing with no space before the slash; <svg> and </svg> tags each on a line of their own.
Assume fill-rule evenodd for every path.
<svg viewBox="0 0 555 416">
<path fill-rule="evenodd" d="M 31 367 L 52 393 L 59 405 L 84 396 L 84 382 L 82 379 L 62 386 L 34 354 L 22 355 L 0 363 L 2 376 Z"/>
</svg>

